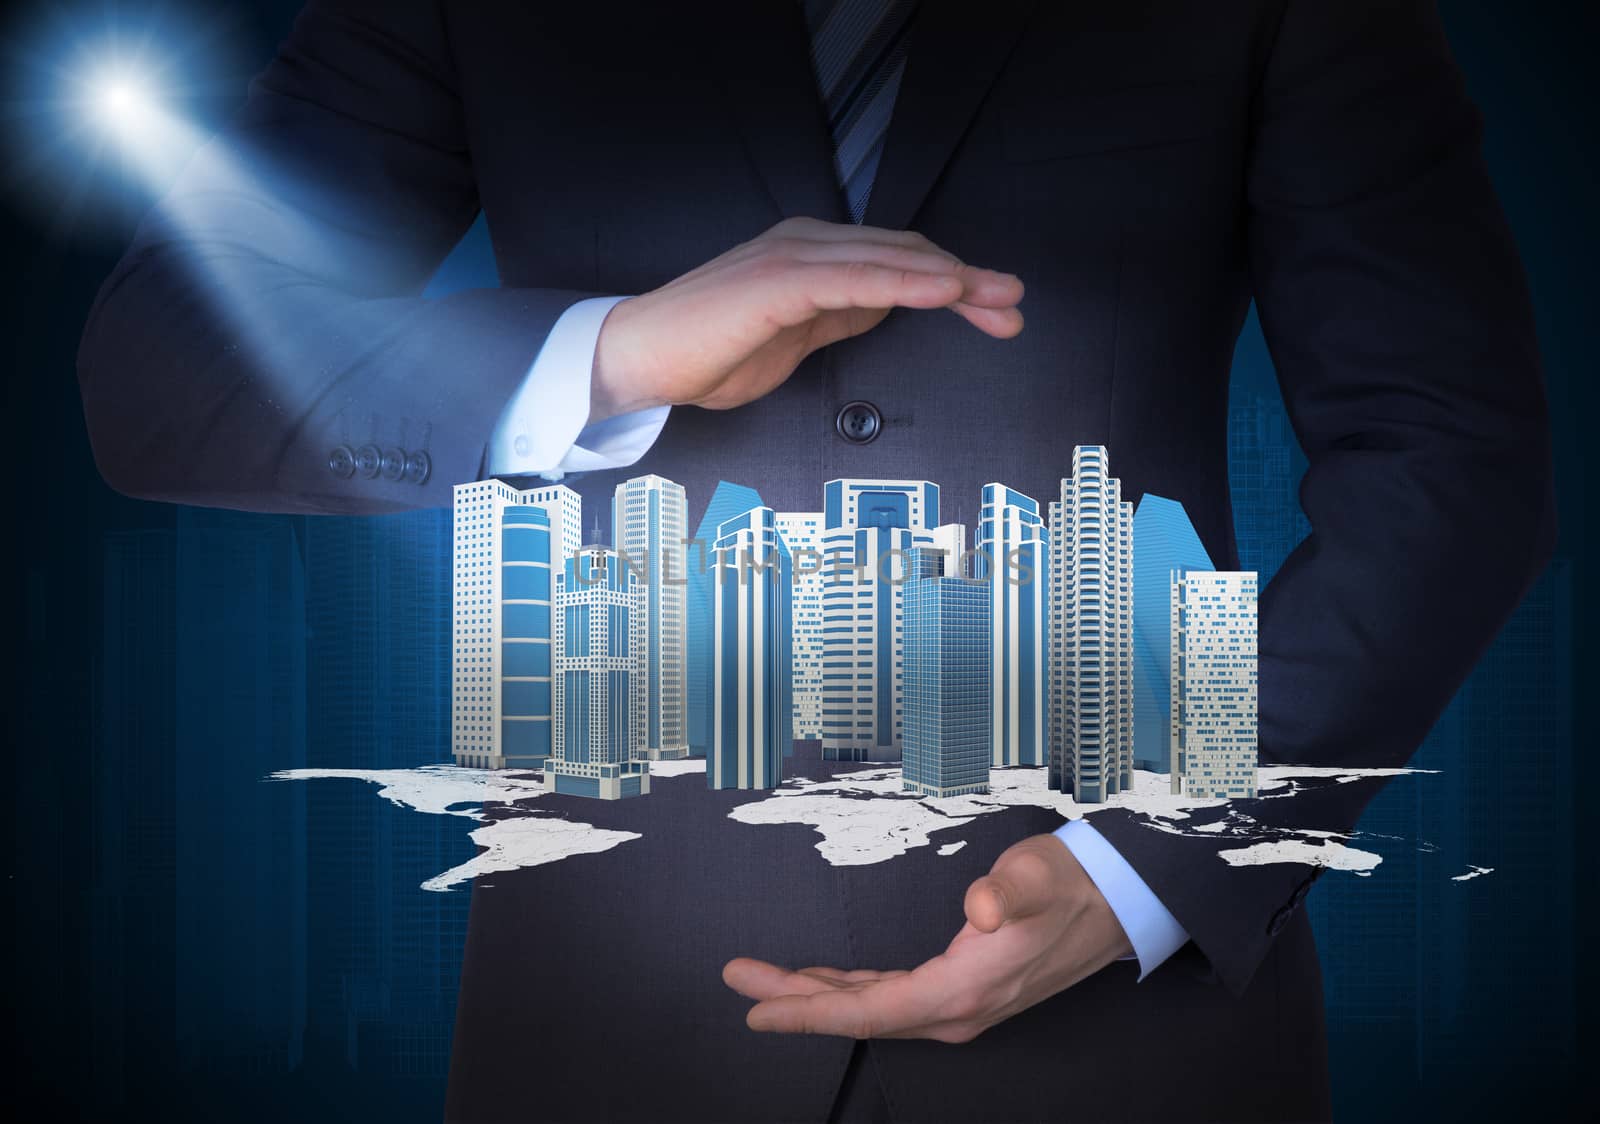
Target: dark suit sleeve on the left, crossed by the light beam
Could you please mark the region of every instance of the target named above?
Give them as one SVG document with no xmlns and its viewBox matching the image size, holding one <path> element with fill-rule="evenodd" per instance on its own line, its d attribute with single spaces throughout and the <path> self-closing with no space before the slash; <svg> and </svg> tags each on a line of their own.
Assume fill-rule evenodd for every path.
<svg viewBox="0 0 1600 1124">
<path fill-rule="evenodd" d="M 450 503 L 576 290 L 422 299 L 478 211 L 434 0 L 315 0 L 102 287 L 78 354 L 131 495 L 371 512 Z M 330 468 L 422 450 L 426 484 Z"/>
</svg>

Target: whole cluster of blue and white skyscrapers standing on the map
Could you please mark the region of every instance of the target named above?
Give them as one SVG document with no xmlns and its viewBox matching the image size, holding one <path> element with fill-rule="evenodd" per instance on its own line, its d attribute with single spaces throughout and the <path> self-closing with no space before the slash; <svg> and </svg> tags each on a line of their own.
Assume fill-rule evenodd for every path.
<svg viewBox="0 0 1600 1124">
<path fill-rule="evenodd" d="M 1080 445 L 1048 504 L 984 485 L 971 544 L 928 480 L 829 480 L 821 512 L 718 485 L 616 487 L 611 543 L 565 485 L 454 488 L 453 754 L 552 793 L 650 793 L 706 757 L 770 789 L 795 743 L 901 762 L 925 796 L 1046 767 L 1082 804 L 1134 767 L 1198 799 L 1256 794 L 1256 573 L 1216 572 L 1182 506 L 1122 496 Z"/>
</svg>

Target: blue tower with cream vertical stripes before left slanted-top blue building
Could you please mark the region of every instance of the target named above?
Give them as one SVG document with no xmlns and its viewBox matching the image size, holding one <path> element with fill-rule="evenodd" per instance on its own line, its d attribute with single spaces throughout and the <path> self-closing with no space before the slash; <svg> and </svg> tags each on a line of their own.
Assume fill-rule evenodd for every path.
<svg viewBox="0 0 1600 1124">
<path fill-rule="evenodd" d="M 718 527 L 712 592 L 710 788 L 778 788 L 794 745 L 794 564 L 771 508 Z"/>
</svg>

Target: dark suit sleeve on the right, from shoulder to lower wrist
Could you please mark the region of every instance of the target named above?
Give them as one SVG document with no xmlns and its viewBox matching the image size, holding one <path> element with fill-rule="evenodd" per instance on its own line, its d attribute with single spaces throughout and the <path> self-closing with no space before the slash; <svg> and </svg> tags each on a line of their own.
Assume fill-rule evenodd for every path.
<svg viewBox="0 0 1600 1124">
<path fill-rule="evenodd" d="M 1312 525 L 1261 599 L 1262 762 L 1403 765 L 1555 535 L 1525 280 L 1429 0 L 1285 5 L 1248 208 Z M 1349 831 L 1378 788 L 1232 810 Z M 1216 836 L 1094 826 L 1235 991 L 1312 882 L 1299 865 L 1229 866 Z"/>
</svg>

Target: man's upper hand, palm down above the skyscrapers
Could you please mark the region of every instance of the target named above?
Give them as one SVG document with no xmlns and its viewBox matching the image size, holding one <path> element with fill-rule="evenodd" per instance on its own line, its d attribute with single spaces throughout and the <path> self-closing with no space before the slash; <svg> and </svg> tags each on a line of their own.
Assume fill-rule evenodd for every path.
<svg viewBox="0 0 1600 1124">
<path fill-rule="evenodd" d="M 920 234 L 784 219 L 611 309 L 589 416 L 754 402 L 813 351 L 867 331 L 894 307 L 947 307 L 1008 339 L 1022 330 L 1021 299 L 1014 275 L 968 266 Z"/>
</svg>

